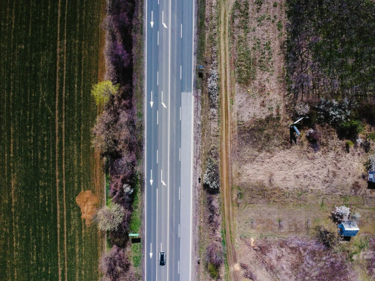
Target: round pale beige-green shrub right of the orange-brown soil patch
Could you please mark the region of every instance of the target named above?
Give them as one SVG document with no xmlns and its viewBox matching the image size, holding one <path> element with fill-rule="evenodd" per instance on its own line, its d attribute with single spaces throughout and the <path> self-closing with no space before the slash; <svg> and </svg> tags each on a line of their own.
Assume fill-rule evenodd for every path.
<svg viewBox="0 0 375 281">
<path fill-rule="evenodd" d="M 117 203 L 104 205 L 97 212 L 98 227 L 103 231 L 113 231 L 121 224 L 124 218 L 124 208 Z"/>
</svg>

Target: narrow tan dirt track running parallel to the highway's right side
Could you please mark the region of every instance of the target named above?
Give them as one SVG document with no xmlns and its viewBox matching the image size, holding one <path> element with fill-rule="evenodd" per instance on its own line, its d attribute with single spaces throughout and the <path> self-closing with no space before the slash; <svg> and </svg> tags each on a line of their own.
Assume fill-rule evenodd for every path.
<svg viewBox="0 0 375 281">
<path fill-rule="evenodd" d="M 234 245 L 231 241 L 231 223 L 233 222 L 232 212 L 232 191 L 231 191 L 231 121 L 230 121 L 230 67 L 228 53 L 228 14 L 230 0 L 220 1 L 220 96 L 221 96 L 221 183 L 223 190 L 225 240 L 227 245 L 227 258 L 230 279 L 236 281 L 237 257 Z"/>
</svg>

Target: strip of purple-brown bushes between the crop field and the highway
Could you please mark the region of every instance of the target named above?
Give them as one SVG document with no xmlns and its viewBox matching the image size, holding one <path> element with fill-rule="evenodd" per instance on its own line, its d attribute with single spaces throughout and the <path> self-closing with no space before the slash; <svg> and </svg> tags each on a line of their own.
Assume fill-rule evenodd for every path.
<svg viewBox="0 0 375 281">
<path fill-rule="evenodd" d="M 93 129 L 93 143 L 107 157 L 110 174 L 112 202 L 124 208 L 120 226 L 109 233 L 112 250 L 103 257 L 103 280 L 134 280 L 125 255 L 129 241 L 133 187 L 137 155 L 142 142 L 136 126 L 135 100 L 133 96 L 133 17 L 137 3 L 134 0 L 109 0 L 108 16 L 104 22 L 107 31 L 106 59 L 107 79 L 120 86 L 120 94 L 111 106 L 106 106 L 97 118 Z M 138 8 L 137 11 L 142 11 Z"/>
</svg>

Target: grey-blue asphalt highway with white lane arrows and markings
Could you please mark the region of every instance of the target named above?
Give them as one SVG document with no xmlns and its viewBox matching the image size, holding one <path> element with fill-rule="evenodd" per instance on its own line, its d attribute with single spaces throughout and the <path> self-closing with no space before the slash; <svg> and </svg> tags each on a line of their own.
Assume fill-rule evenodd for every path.
<svg viewBox="0 0 375 281">
<path fill-rule="evenodd" d="M 194 1 L 146 0 L 145 11 L 144 276 L 187 281 L 192 279 Z"/>
</svg>

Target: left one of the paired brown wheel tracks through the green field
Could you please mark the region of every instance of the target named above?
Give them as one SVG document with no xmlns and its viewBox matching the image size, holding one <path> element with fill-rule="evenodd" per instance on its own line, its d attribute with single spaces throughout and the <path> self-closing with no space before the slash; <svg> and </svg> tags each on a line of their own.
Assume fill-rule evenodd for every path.
<svg viewBox="0 0 375 281">
<path fill-rule="evenodd" d="M 56 108 L 55 108 L 55 134 L 56 134 L 56 205 L 57 205 L 57 264 L 58 264 L 58 279 L 61 281 L 61 265 L 60 265 L 60 207 L 58 196 L 58 91 L 59 79 L 58 71 L 60 66 L 60 18 L 61 18 L 61 1 L 58 2 L 57 15 L 57 62 L 56 62 Z"/>
</svg>

